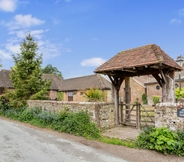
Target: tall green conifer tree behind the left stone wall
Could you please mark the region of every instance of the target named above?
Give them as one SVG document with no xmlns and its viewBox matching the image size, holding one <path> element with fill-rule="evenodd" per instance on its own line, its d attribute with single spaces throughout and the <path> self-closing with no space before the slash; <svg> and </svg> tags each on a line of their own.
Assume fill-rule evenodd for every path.
<svg viewBox="0 0 184 162">
<path fill-rule="evenodd" d="M 20 45 L 20 53 L 13 55 L 15 66 L 10 78 L 15 90 L 9 93 L 14 107 L 24 106 L 28 99 L 46 99 L 51 82 L 42 80 L 42 55 L 37 56 L 37 43 L 28 34 Z"/>
</svg>

